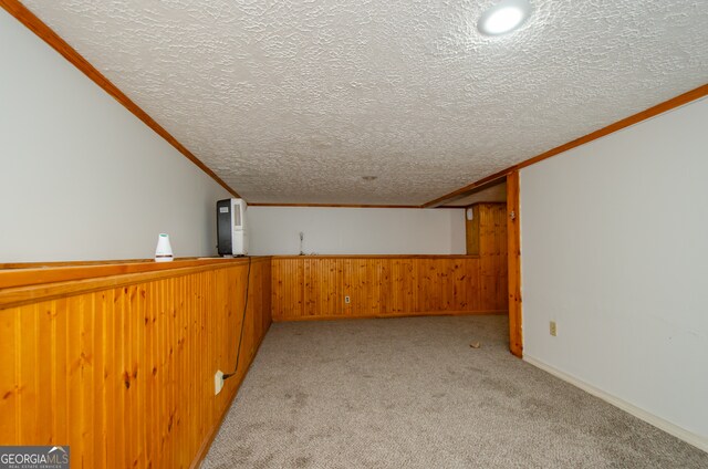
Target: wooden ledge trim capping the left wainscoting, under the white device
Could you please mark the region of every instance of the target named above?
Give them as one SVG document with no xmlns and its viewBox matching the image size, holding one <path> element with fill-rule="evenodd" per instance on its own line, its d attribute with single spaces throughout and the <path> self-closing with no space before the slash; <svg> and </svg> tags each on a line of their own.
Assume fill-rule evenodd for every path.
<svg viewBox="0 0 708 469">
<path fill-rule="evenodd" d="M 270 262 L 269 257 L 251 258 Z M 248 259 L 201 259 L 138 264 L 0 271 L 0 310 L 39 300 L 248 264 Z"/>
</svg>

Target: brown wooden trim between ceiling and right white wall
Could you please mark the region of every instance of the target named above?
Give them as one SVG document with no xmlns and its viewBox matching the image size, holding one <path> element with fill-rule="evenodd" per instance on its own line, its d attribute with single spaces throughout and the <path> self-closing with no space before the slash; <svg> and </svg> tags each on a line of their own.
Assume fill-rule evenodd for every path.
<svg viewBox="0 0 708 469">
<path fill-rule="evenodd" d="M 668 101 L 665 101 L 663 103 L 659 103 L 655 106 L 652 106 L 647 110 L 641 111 L 636 114 L 631 115 L 629 117 L 625 117 L 622 121 L 617 121 L 613 124 L 610 124 L 606 127 L 600 128 L 593 133 L 590 133 L 587 135 L 584 135 L 582 137 L 575 138 L 574 140 L 571 140 L 566 144 L 556 146 L 555 148 L 551 148 L 548 152 L 544 152 L 540 155 L 537 155 L 532 158 L 525 159 L 519 164 L 516 164 L 513 166 L 510 166 L 506 169 L 502 169 L 498 173 L 494 173 L 490 176 L 487 176 L 482 179 L 479 179 L 476 183 L 469 184 L 465 187 L 461 187 L 457 190 L 454 190 L 449 194 L 446 194 L 441 197 L 438 197 L 437 199 L 430 200 L 429 202 L 424 204 L 421 207 L 423 208 L 437 208 L 440 204 L 445 202 L 446 200 L 449 200 L 454 197 L 457 196 L 461 196 L 466 192 L 470 192 L 473 189 L 483 186 L 486 184 L 489 184 L 491 181 L 494 181 L 497 179 L 501 179 L 503 177 L 506 177 L 508 174 L 513 173 L 516 170 L 519 170 L 521 168 L 525 168 L 527 166 L 531 166 L 534 165 L 539 161 L 542 161 L 544 159 L 548 159 L 552 156 L 556 156 L 560 155 L 564 152 L 568 152 L 569 149 L 573 149 L 575 147 L 579 147 L 581 145 L 584 145 L 586 143 L 590 143 L 592 140 L 596 140 L 597 138 L 604 137 L 606 135 L 613 134 L 617 131 L 622 131 L 623 128 L 629 127 L 631 125 L 634 124 L 638 124 L 642 121 L 646 121 L 648 118 L 652 118 L 654 116 L 657 116 L 659 114 L 663 114 L 667 111 L 674 110 L 676 107 L 683 106 L 684 104 L 688 104 L 693 101 L 697 101 L 700 100 L 701 97 L 708 95 L 708 84 L 698 86 L 697 88 L 690 90 L 684 94 L 679 94 L 678 96 L 675 96 Z"/>
</svg>

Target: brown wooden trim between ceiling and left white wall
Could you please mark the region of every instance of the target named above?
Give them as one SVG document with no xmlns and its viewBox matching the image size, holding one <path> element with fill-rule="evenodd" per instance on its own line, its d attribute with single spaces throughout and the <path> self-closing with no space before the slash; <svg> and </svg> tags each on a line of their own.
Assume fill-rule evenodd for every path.
<svg viewBox="0 0 708 469">
<path fill-rule="evenodd" d="M 106 93 L 121 103 L 126 110 L 133 113 L 137 118 L 143 121 L 145 125 L 150 127 L 163 137 L 167 143 L 174 146 L 177 152 L 181 153 L 187 159 L 197 165 L 199 169 L 205 171 L 211 179 L 217 181 L 221 187 L 228 190 L 233 197 L 240 197 L 236 190 L 233 190 L 228 184 L 226 184 L 219 176 L 216 175 L 207 165 L 201 163 L 191 152 L 180 144 L 169 132 L 167 132 L 162 125 L 159 125 L 153 117 L 150 117 L 143 108 L 135 104 L 129 97 L 125 95 L 116 85 L 114 85 L 108 79 L 106 79 L 96 67 L 94 67 L 86 59 L 84 59 L 74 48 L 69 45 L 59 34 L 56 34 L 50 27 L 48 27 L 42 20 L 40 20 L 34 13 L 32 13 L 27 7 L 24 7 L 18 0 L 0 0 L 0 7 L 13 15 L 18 21 L 24 24 L 29 30 L 37 34 L 41 40 L 46 42 L 52 49 L 59 52 L 64 59 L 71 62 L 76 69 L 79 69 L 84 75 L 91 79 L 95 84 L 101 86 Z"/>
</svg>

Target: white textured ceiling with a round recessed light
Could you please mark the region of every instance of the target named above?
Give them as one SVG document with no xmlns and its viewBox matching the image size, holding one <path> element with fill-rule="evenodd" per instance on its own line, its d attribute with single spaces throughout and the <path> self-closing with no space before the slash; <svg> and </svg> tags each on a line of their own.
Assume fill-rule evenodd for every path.
<svg viewBox="0 0 708 469">
<path fill-rule="evenodd" d="M 251 202 L 423 204 L 708 82 L 708 0 L 494 2 L 23 1 Z"/>
</svg>

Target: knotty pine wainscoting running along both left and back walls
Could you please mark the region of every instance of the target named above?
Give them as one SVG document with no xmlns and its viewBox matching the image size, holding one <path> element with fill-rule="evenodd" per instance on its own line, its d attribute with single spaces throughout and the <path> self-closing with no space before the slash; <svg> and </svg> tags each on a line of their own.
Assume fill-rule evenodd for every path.
<svg viewBox="0 0 708 469">
<path fill-rule="evenodd" d="M 251 260 L 242 322 L 248 262 L 0 269 L 0 445 L 69 445 L 72 467 L 194 467 L 271 312 L 298 321 L 506 310 L 476 256 L 264 257 Z M 238 373 L 215 396 L 214 375 L 233 371 L 237 350 Z"/>
</svg>

